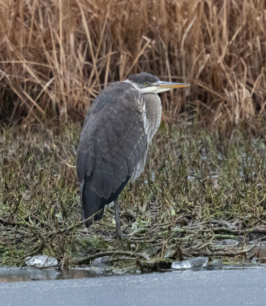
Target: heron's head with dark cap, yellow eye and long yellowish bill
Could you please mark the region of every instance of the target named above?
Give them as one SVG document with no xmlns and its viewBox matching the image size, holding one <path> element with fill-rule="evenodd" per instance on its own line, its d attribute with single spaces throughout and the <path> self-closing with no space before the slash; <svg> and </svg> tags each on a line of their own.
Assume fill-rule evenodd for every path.
<svg viewBox="0 0 266 306">
<path fill-rule="evenodd" d="M 163 91 L 168 91 L 172 88 L 188 87 L 190 84 L 173 83 L 160 81 L 157 76 L 150 73 L 141 72 L 128 77 L 125 82 L 133 85 L 142 94 L 154 93 L 158 94 Z"/>
</svg>

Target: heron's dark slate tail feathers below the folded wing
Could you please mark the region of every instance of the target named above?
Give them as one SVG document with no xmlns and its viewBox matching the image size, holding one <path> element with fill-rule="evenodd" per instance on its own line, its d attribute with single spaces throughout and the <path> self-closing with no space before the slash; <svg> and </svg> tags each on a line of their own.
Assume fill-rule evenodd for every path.
<svg viewBox="0 0 266 306">
<path fill-rule="evenodd" d="M 92 217 L 85 223 L 86 227 L 89 227 L 93 220 L 102 219 L 107 200 L 97 196 L 89 187 L 88 181 L 84 180 L 80 185 L 80 199 L 82 203 L 82 220 Z"/>
</svg>

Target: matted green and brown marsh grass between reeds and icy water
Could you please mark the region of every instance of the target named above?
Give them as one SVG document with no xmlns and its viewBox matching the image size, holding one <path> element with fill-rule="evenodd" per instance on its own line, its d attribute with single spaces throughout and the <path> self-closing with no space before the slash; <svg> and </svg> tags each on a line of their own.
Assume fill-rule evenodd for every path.
<svg viewBox="0 0 266 306">
<path fill-rule="evenodd" d="M 0 259 L 45 254 L 63 267 L 111 256 L 125 271 L 169 267 L 190 256 L 251 259 L 251 248 L 216 240 L 266 233 L 266 138 L 239 126 L 230 137 L 198 125 L 162 124 L 144 173 L 88 230 L 81 222 L 75 156 L 80 124 L 4 128 L 0 135 Z M 264 129 L 265 131 L 265 129 Z"/>
</svg>

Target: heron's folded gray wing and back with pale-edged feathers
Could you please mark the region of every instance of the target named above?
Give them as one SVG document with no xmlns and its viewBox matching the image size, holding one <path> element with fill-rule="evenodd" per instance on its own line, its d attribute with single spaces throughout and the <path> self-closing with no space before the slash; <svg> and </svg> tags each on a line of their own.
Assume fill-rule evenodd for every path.
<svg viewBox="0 0 266 306">
<path fill-rule="evenodd" d="M 86 177 L 91 190 L 105 199 L 145 162 L 147 154 L 143 97 L 134 89 L 120 89 L 110 85 L 94 100 L 77 152 L 78 180 L 82 183 Z"/>
</svg>

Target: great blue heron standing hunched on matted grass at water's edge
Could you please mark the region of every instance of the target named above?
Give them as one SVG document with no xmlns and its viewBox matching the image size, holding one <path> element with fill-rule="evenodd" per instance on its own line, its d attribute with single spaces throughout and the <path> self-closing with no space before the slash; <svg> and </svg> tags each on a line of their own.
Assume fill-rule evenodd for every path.
<svg viewBox="0 0 266 306">
<path fill-rule="evenodd" d="M 114 201 L 116 237 L 123 237 L 118 196 L 144 169 L 149 143 L 161 121 L 158 93 L 187 86 L 142 72 L 97 95 L 86 115 L 77 152 L 83 219 L 101 219 L 105 205 Z"/>
</svg>

